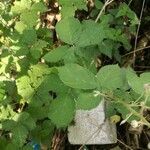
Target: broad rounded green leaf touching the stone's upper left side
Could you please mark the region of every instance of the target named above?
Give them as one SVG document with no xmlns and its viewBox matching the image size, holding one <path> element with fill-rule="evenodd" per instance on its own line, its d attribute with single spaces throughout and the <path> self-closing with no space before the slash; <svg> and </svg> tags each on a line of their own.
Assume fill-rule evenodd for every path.
<svg viewBox="0 0 150 150">
<path fill-rule="evenodd" d="M 67 127 L 75 114 L 75 102 L 69 96 L 60 97 L 52 101 L 48 117 L 59 127 Z"/>
</svg>

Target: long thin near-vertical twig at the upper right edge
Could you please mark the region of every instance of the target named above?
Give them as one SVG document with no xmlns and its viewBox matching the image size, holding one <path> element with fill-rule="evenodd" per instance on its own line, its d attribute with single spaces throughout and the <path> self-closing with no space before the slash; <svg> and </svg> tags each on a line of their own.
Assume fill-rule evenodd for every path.
<svg viewBox="0 0 150 150">
<path fill-rule="evenodd" d="M 140 26 L 141 26 L 141 20 L 142 20 L 142 16 L 143 16 L 144 7 L 145 7 L 145 0 L 143 0 L 142 9 L 141 9 L 140 18 L 139 18 L 139 24 L 138 24 L 137 31 L 136 31 L 136 37 L 135 37 L 135 42 L 134 42 L 134 51 L 133 51 L 133 66 L 135 65 L 137 39 L 138 39 L 138 34 L 139 34 Z"/>
</svg>

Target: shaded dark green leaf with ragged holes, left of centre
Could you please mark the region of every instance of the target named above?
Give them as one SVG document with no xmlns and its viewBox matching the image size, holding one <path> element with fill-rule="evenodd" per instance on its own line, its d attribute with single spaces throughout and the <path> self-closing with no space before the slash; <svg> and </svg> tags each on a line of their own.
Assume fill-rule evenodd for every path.
<svg viewBox="0 0 150 150">
<path fill-rule="evenodd" d="M 69 88 L 62 83 L 57 74 L 46 76 L 32 98 L 28 113 L 31 114 L 34 120 L 46 118 L 50 102 L 53 99 L 55 100 L 58 96 L 64 96 L 64 94 L 68 92 L 68 89 Z M 39 111 L 39 108 L 41 111 Z"/>
</svg>

